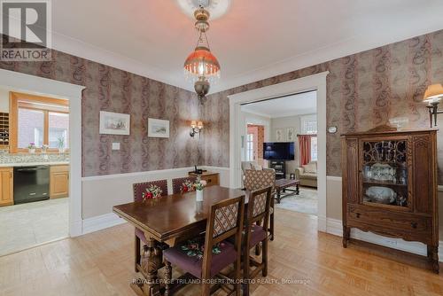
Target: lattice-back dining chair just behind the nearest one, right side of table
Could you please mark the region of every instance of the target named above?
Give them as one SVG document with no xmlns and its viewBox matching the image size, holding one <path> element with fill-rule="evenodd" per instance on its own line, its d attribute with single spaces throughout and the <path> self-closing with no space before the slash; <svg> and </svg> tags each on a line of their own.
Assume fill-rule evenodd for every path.
<svg viewBox="0 0 443 296">
<path fill-rule="evenodd" d="M 272 199 L 272 186 L 258 191 L 248 192 L 248 206 L 245 214 L 245 228 L 242 244 L 244 295 L 249 295 L 249 282 L 261 271 L 261 275 L 268 275 L 268 219 Z M 260 222 L 263 221 L 261 225 Z M 261 262 L 249 256 L 250 251 L 261 243 Z M 251 266 L 255 269 L 251 269 Z"/>
</svg>

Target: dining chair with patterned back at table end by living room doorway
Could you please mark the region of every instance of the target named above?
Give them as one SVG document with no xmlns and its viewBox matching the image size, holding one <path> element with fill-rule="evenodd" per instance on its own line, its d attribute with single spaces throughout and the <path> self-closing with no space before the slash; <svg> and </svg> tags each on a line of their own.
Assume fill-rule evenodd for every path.
<svg viewBox="0 0 443 296">
<path fill-rule="evenodd" d="M 271 195 L 274 197 L 276 188 L 276 172 L 273 169 L 263 169 L 263 170 L 245 170 L 245 190 L 246 191 L 256 191 L 259 189 L 266 188 L 268 186 L 272 187 Z M 270 240 L 274 240 L 274 199 L 271 199 L 271 205 L 269 209 L 270 213 Z"/>
</svg>

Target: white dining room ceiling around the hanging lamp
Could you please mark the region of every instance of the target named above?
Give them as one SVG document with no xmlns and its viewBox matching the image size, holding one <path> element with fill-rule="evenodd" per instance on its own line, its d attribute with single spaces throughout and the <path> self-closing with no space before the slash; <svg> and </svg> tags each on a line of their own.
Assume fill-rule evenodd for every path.
<svg viewBox="0 0 443 296">
<path fill-rule="evenodd" d="M 443 28 L 441 0 L 232 0 L 211 22 L 211 92 Z M 192 90 L 197 41 L 175 0 L 53 0 L 53 47 Z"/>
</svg>

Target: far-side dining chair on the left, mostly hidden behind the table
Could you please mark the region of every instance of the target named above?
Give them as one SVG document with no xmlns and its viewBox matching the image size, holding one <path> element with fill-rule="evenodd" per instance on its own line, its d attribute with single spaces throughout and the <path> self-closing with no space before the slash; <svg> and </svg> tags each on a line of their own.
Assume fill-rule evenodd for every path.
<svg viewBox="0 0 443 296">
<path fill-rule="evenodd" d="M 152 185 L 158 186 L 161 190 L 161 196 L 167 195 L 167 180 L 158 180 L 144 183 L 134 183 L 132 184 L 133 193 L 134 193 L 134 201 L 142 201 L 143 194 L 149 189 Z M 146 237 L 144 236 L 144 231 L 136 228 L 135 230 L 136 237 L 136 254 L 135 254 L 135 269 L 136 272 L 140 270 L 140 260 L 141 260 L 141 242 L 146 245 Z"/>
</svg>

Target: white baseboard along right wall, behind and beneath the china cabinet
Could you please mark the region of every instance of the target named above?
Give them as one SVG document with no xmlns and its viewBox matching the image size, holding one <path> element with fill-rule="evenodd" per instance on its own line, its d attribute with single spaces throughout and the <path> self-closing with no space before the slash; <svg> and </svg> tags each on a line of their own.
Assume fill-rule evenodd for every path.
<svg viewBox="0 0 443 296">
<path fill-rule="evenodd" d="M 343 237 L 343 226 L 341 220 L 326 219 L 326 232 L 332 235 Z M 379 236 L 372 232 L 364 232 L 361 230 L 352 229 L 351 238 L 356 238 L 365 242 L 376 245 L 383 245 L 392 249 L 406 251 L 409 253 L 416 253 L 425 256 L 427 253 L 426 245 L 419 242 L 408 242 L 401 238 L 386 238 Z M 439 261 L 443 262 L 443 241 L 439 241 Z"/>
</svg>

